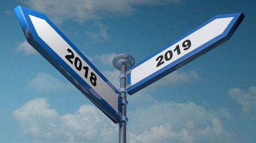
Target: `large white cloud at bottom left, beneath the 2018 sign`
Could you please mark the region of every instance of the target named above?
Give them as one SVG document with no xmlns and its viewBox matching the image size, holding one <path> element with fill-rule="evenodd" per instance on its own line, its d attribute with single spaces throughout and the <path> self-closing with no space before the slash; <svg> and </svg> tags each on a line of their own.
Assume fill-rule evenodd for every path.
<svg viewBox="0 0 256 143">
<path fill-rule="evenodd" d="M 58 115 L 47 99 L 37 98 L 13 115 L 22 132 L 37 142 L 116 142 L 117 126 L 104 120 L 103 113 L 92 105 L 83 105 L 73 114 Z"/>
</svg>

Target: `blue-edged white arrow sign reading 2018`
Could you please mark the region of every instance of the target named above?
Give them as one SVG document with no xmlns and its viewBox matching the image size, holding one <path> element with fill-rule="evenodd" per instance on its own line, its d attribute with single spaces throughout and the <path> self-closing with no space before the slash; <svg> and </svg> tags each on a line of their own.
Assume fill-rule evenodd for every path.
<svg viewBox="0 0 256 143">
<path fill-rule="evenodd" d="M 46 15 L 14 9 L 27 41 L 114 123 L 121 120 L 120 93 Z M 54 86 L 54 85 L 52 85 Z"/>
</svg>

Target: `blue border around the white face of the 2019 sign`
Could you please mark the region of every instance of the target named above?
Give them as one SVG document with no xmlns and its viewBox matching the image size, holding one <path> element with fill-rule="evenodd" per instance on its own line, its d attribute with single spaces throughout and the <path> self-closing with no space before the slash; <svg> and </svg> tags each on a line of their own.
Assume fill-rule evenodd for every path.
<svg viewBox="0 0 256 143">
<path fill-rule="evenodd" d="M 213 21 L 217 18 L 226 18 L 226 17 L 233 17 L 233 19 L 231 20 L 231 22 L 228 24 L 225 31 L 221 35 L 215 37 L 214 39 L 208 41 L 207 43 L 203 44 L 202 46 L 200 46 L 200 47 L 194 49 L 193 51 L 187 53 L 186 55 L 182 56 L 180 59 L 174 61 L 173 63 L 170 63 L 169 65 L 163 67 L 162 69 L 158 70 L 157 72 L 151 74 L 150 76 L 147 76 L 146 78 L 142 79 L 141 81 L 139 81 L 139 82 L 135 83 L 134 85 L 132 85 L 131 87 L 129 87 L 129 84 L 131 84 L 131 73 L 129 73 L 129 71 L 135 69 L 136 67 L 138 67 L 142 63 L 146 62 L 147 60 L 153 58 L 155 55 L 162 52 L 166 48 L 174 45 L 175 43 L 184 39 L 188 35 L 190 35 L 190 34 L 194 33 L 195 31 L 199 30 L 201 27 L 205 26 L 206 24 L 210 23 L 211 21 Z M 217 16 L 211 18 L 210 20 L 204 22 L 203 24 L 201 24 L 200 26 L 198 26 L 194 30 L 190 31 L 189 33 L 185 34 L 181 38 L 179 38 L 176 41 L 168 44 L 164 48 L 158 50 L 157 52 L 148 56 L 146 59 L 137 63 L 135 66 L 133 66 L 133 67 L 131 67 L 130 69 L 127 70 L 128 71 L 127 72 L 128 73 L 127 74 L 127 85 L 128 85 L 127 86 L 128 87 L 127 88 L 127 93 L 129 93 L 130 95 L 133 95 L 134 93 L 136 93 L 136 92 L 140 91 L 141 89 L 147 87 L 151 83 L 159 80 L 160 78 L 166 76 L 169 73 L 172 73 L 173 71 L 175 71 L 175 70 L 179 69 L 180 67 L 184 66 L 185 64 L 193 61 L 194 59 L 198 58 L 199 56 L 203 55 L 204 53 L 206 53 L 206 52 L 210 51 L 211 49 L 214 49 L 215 47 L 219 46 L 220 44 L 226 42 L 233 35 L 234 31 L 237 30 L 239 24 L 242 22 L 244 17 L 245 16 L 244 16 L 243 13 L 217 15 Z"/>
</svg>

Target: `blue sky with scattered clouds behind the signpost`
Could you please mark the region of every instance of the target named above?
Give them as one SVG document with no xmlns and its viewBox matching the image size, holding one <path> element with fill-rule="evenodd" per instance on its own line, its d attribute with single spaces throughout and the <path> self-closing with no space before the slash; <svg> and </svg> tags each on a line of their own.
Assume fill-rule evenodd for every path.
<svg viewBox="0 0 256 143">
<path fill-rule="evenodd" d="M 13 9 L 45 13 L 118 88 L 117 53 L 136 63 L 218 14 L 231 39 L 128 97 L 127 142 L 255 142 L 254 1 L 6 1 L 0 6 L 1 142 L 117 142 L 118 127 L 25 41 Z"/>
</svg>

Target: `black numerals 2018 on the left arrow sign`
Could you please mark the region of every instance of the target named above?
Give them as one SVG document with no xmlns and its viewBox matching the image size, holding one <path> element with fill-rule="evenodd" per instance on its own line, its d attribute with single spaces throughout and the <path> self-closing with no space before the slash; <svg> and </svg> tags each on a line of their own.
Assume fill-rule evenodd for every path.
<svg viewBox="0 0 256 143">
<path fill-rule="evenodd" d="M 84 77 L 86 79 L 88 79 L 88 73 L 89 73 L 89 68 L 87 66 L 82 66 L 82 61 L 76 57 L 75 58 L 75 55 L 74 55 L 74 52 L 71 50 L 71 49 L 67 49 L 67 51 L 71 54 L 68 54 L 65 56 L 65 58 L 73 65 L 74 63 L 74 66 L 75 68 L 78 70 L 78 71 L 81 71 L 82 69 L 84 69 Z M 74 59 L 74 62 L 72 59 Z M 90 82 L 94 85 L 94 87 L 96 87 L 97 85 L 97 77 L 95 75 L 95 73 L 91 72 L 91 76 L 90 76 Z"/>
</svg>

